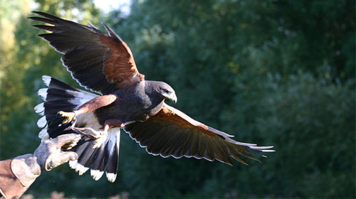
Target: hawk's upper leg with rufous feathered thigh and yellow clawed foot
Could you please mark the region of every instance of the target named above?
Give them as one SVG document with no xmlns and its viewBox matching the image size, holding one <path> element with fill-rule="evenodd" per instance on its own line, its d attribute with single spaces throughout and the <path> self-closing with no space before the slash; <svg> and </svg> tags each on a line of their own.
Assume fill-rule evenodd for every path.
<svg viewBox="0 0 356 199">
<path fill-rule="evenodd" d="M 115 102 L 116 99 L 117 99 L 116 95 L 103 95 L 103 96 L 95 97 L 94 99 L 90 99 L 88 102 L 82 104 L 78 109 L 76 109 L 73 112 L 61 111 L 58 112 L 58 114 L 60 114 L 62 117 L 66 117 L 66 119 L 63 120 L 63 124 L 66 124 L 70 121 L 75 121 L 75 117 L 77 117 L 78 114 L 93 112 L 96 109 L 108 106 L 112 102 Z"/>
</svg>

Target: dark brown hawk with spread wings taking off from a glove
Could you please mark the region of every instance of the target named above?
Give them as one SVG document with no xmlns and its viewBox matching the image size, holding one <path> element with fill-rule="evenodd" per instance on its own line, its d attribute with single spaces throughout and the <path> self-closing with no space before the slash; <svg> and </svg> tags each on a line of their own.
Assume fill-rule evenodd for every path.
<svg viewBox="0 0 356 199">
<path fill-rule="evenodd" d="M 70 151 L 78 154 L 69 165 L 79 175 L 90 168 L 98 180 L 106 173 L 114 182 L 120 143 L 120 129 L 149 154 L 174 158 L 194 157 L 218 160 L 232 166 L 230 158 L 247 164 L 241 156 L 257 160 L 256 151 L 273 151 L 273 146 L 256 146 L 231 139 L 231 135 L 197 122 L 164 103 L 177 102 L 174 90 L 165 82 L 145 80 L 138 72 L 130 48 L 103 24 L 107 34 L 51 14 L 33 11 L 42 17 L 29 17 L 49 25 L 34 25 L 51 33 L 38 36 L 63 56 L 61 61 L 80 86 L 78 90 L 43 76 L 47 88 L 38 90 L 43 103 L 35 107 L 41 139 L 61 134 L 83 134 Z M 259 154 L 261 155 L 261 154 Z"/>
</svg>

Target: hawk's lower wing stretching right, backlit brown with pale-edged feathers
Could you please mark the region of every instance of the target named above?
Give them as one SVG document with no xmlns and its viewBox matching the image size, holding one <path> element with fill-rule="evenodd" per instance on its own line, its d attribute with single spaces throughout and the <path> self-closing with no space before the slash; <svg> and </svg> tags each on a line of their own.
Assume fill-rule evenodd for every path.
<svg viewBox="0 0 356 199">
<path fill-rule="evenodd" d="M 148 153 L 163 157 L 216 159 L 232 166 L 229 157 L 247 164 L 240 156 L 257 160 L 251 156 L 257 155 L 254 151 L 273 151 L 268 150 L 273 146 L 234 141 L 231 135 L 201 124 L 167 104 L 147 121 L 128 124 L 125 131 Z"/>
</svg>

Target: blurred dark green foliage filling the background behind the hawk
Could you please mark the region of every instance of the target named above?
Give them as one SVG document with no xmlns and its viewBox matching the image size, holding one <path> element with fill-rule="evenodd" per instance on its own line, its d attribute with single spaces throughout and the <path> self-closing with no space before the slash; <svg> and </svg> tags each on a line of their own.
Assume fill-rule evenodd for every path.
<svg viewBox="0 0 356 199">
<path fill-rule="evenodd" d="M 41 75 L 71 85 L 60 56 L 26 19 L 30 1 L 0 0 L 0 157 L 39 144 L 33 107 Z M 39 11 L 105 21 L 147 80 L 172 85 L 175 107 L 239 141 L 273 145 L 234 167 L 150 156 L 122 132 L 117 181 L 68 166 L 28 193 L 107 198 L 355 198 L 355 1 L 132 1 L 100 14 L 90 1 L 37 0 Z"/>
</svg>

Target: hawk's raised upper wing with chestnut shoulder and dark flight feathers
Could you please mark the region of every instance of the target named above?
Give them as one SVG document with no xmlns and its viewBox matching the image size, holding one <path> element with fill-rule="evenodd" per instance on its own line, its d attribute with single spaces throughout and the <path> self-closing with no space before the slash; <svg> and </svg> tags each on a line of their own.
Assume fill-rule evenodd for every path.
<svg viewBox="0 0 356 199">
<path fill-rule="evenodd" d="M 34 27 L 52 32 L 38 36 L 64 54 L 61 58 L 63 65 L 81 86 L 108 94 L 144 80 L 144 75 L 136 68 L 130 48 L 105 24 L 108 35 L 91 24 L 84 26 L 43 12 L 33 13 L 46 18 L 29 18 L 53 25 Z"/>
</svg>

